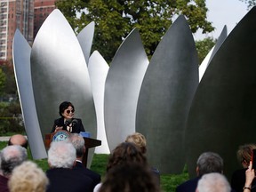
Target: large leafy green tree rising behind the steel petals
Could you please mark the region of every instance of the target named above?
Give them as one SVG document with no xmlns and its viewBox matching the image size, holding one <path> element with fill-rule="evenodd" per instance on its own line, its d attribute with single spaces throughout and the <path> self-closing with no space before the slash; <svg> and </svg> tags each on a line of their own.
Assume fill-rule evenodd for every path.
<svg viewBox="0 0 256 192">
<path fill-rule="evenodd" d="M 140 30 L 149 57 L 177 15 L 187 18 L 193 33 L 198 28 L 203 33 L 214 29 L 206 20 L 205 0 L 58 0 L 56 5 L 76 33 L 95 22 L 92 51 L 98 50 L 108 62 L 133 28 Z"/>
</svg>

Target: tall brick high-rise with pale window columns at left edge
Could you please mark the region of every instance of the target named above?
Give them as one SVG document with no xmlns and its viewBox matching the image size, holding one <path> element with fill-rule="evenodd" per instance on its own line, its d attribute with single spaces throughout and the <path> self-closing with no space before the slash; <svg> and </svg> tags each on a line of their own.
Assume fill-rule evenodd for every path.
<svg viewBox="0 0 256 192">
<path fill-rule="evenodd" d="M 34 0 L 0 0 L 0 60 L 12 59 L 12 39 L 16 28 L 32 44 Z"/>
</svg>

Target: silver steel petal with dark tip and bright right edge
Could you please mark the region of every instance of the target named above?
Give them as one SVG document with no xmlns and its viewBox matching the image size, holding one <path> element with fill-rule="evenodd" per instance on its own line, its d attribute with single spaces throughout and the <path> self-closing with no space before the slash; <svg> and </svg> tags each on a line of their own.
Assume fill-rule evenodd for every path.
<svg viewBox="0 0 256 192">
<path fill-rule="evenodd" d="M 110 151 L 135 132 L 137 101 L 147 68 L 148 58 L 135 28 L 117 50 L 106 79 L 104 118 Z"/>
</svg>

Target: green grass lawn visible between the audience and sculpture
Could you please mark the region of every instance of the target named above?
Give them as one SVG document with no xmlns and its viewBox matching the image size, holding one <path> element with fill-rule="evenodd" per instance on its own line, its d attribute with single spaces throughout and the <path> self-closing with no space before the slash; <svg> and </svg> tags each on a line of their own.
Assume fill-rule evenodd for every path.
<svg viewBox="0 0 256 192">
<path fill-rule="evenodd" d="M 7 145 L 7 142 L 0 142 L 0 149 L 4 148 Z M 28 150 L 28 159 L 32 160 L 32 156 L 30 151 Z M 39 167 L 41 167 L 44 172 L 49 168 L 46 159 L 42 160 L 32 160 Z M 91 169 L 94 172 L 98 172 L 103 179 L 105 176 L 106 165 L 108 162 L 108 155 L 105 154 L 95 154 L 92 159 Z M 180 185 L 180 183 L 188 180 L 188 172 L 185 168 L 181 174 L 161 174 L 161 188 L 162 192 L 174 192 L 175 188 Z"/>
</svg>

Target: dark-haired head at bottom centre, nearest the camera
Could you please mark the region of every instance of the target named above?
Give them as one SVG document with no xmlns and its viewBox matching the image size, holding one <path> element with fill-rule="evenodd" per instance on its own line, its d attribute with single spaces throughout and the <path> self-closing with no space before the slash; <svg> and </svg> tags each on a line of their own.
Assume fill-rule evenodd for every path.
<svg viewBox="0 0 256 192">
<path fill-rule="evenodd" d="M 100 192 L 158 192 L 158 186 L 147 166 L 132 162 L 109 170 Z"/>
</svg>

